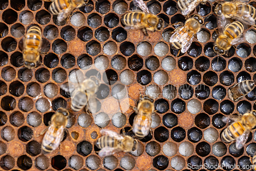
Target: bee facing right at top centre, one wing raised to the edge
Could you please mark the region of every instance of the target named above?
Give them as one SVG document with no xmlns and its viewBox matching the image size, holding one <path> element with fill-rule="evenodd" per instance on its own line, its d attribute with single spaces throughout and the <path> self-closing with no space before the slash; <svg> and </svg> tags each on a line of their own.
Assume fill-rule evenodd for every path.
<svg viewBox="0 0 256 171">
<path fill-rule="evenodd" d="M 164 27 L 164 20 L 152 14 L 148 10 L 143 0 L 133 0 L 136 7 L 141 11 L 128 12 L 121 18 L 121 22 L 125 25 L 125 29 L 142 29 L 142 32 L 147 36 L 148 31 L 161 31 Z"/>
</svg>

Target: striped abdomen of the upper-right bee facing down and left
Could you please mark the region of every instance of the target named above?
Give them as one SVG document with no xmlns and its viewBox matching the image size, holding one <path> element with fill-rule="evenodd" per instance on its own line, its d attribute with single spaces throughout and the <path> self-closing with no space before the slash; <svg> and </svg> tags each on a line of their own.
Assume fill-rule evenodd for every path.
<svg viewBox="0 0 256 171">
<path fill-rule="evenodd" d="M 227 25 L 224 29 L 224 34 L 231 39 L 241 36 L 243 32 L 244 32 L 244 26 L 240 22 L 233 22 Z"/>
</svg>

